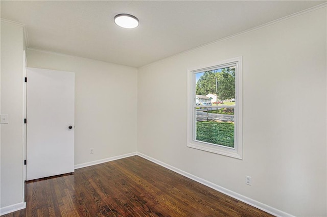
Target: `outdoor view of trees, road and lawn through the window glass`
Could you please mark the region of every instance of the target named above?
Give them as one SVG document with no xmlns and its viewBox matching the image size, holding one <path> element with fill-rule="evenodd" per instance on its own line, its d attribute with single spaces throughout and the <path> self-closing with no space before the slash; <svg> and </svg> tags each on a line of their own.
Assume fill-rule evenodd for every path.
<svg viewBox="0 0 327 217">
<path fill-rule="evenodd" d="M 197 141 L 234 147 L 235 68 L 195 73 Z"/>
</svg>

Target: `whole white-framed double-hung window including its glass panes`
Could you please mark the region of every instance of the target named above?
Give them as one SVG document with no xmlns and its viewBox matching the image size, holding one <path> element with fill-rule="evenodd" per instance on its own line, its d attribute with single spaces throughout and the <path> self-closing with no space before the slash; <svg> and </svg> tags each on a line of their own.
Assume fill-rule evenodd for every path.
<svg viewBox="0 0 327 217">
<path fill-rule="evenodd" d="M 242 159 L 242 58 L 188 78 L 188 147 Z"/>
</svg>

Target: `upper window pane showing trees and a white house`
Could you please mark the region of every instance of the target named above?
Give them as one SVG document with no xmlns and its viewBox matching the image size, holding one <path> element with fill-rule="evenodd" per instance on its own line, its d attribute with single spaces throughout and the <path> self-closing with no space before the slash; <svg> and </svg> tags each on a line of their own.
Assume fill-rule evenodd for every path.
<svg viewBox="0 0 327 217">
<path fill-rule="evenodd" d="M 235 66 L 195 73 L 196 105 L 235 105 Z"/>
</svg>

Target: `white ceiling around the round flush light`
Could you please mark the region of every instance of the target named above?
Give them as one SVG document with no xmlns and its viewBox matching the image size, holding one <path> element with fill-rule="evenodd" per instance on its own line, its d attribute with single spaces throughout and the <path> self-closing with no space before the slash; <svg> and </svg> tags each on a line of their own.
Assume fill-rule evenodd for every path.
<svg viewBox="0 0 327 217">
<path fill-rule="evenodd" d="M 1 18 L 25 25 L 29 48 L 140 67 L 325 2 L 2 0 Z"/>
</svg>

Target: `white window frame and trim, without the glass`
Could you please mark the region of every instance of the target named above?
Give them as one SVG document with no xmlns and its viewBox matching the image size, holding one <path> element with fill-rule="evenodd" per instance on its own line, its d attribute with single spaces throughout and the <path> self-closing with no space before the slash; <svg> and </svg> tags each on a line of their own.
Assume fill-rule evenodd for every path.
<svg viewBox="0 0 327 217">
<path fill-rule="evenodd" d="M 215 145 L 212 143 L 206 143 L 197 141 L 195 138 L 196 129 L 196 117 L 195 117 L 195 87 L 196 77 L 198 72 L 204 72 L 222 68 L 222 66 L 228 66 L 230 64 L 236 64 L 235 71 L 235 114 L 234 114 L 234 147 L 226 147 L 222 145 Z M 221 154 L 238 159 L 243 158 L 243 71 L 242 71 L 242 57 L 232 58 L 224 61 L 220 61 L 214 64 L 205 65 L 188 70 L 188 140 L 187 146 L 203 151 L 208 151 L 216 154 Z M 201 107 L 213 107 L 204 106 Z M 214 106 L 220 107 L 220 106 Z M 227 106 L 221 106 L 227 107 Z"/>
</svg>

